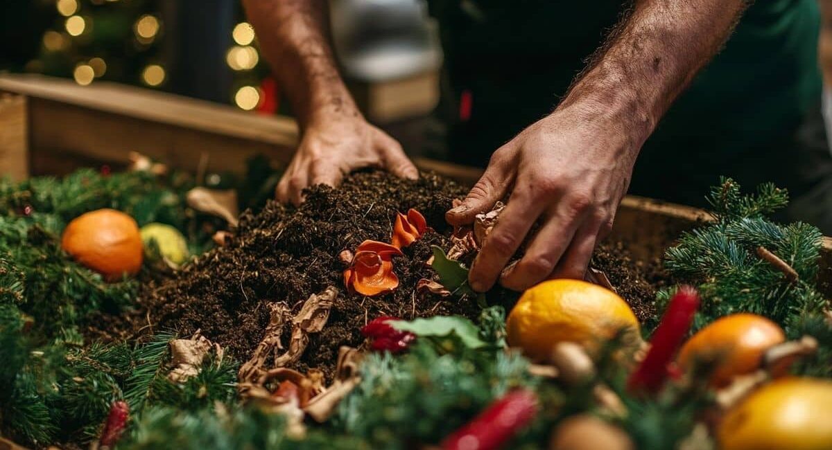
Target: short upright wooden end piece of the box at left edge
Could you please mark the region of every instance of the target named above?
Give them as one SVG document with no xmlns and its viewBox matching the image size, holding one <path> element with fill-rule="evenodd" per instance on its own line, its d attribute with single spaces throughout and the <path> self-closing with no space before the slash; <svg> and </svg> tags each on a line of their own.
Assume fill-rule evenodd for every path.
<svg viewBox="0 0 832 450">
<path fill-rule="evenodd" d="M 21 180 L 29 176 L 27 99 L 0 94 L 0 175 Z"/>
</svg>

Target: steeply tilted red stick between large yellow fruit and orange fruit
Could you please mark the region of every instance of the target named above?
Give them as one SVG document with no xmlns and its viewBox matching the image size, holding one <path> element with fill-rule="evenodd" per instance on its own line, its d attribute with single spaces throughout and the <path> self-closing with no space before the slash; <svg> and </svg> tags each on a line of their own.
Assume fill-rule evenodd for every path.
<svg viewBox="0 0 832 450">
<path fill-rule="evenodd" d="M 673 360 L 699 308 L 699 294 L 691 286 L 681 286 L 671 298 L 661 323 L 653 332 L 650 350 L 627 381 L 631 392 L 656 392 L 668 376 L 668 364 Z"/>
</svg>

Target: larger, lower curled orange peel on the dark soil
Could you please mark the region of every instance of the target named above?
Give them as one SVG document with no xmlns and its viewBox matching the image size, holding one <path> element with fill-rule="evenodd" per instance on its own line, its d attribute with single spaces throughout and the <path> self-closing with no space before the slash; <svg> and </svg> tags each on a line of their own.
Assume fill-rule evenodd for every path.
<svg viewBox="0 0 832 450">
<path fill-rule="evenodd" d="M 393 256 L 399 248 L 378 241 L 364 241 L 356 249 L 352 264 L 344 270 L 344 285 L 364 296 L 377 296 L 399 286 L 393 271 Z"/>
</svg>

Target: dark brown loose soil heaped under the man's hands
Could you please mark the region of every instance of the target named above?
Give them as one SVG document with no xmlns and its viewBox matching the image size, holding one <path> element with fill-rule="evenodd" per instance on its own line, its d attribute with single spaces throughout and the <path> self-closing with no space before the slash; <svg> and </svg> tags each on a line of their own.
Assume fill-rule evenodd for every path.
<svg viewBox="0 0 832 450">
<path fill-rule="evenodd" d="M 434 174 L 409 181 L 369 170 L 350 174 L 337 189 L 310 188 L 299 208 L 270 202 L 256 215 L 241 215 L 228 245 L 207 252 L 171 279 L 147 286 L 138 301 L 139 311 L 121 320 L 102 320 L 109 328 L 106 335 L 147 335 L 155 330 L 191 335 L 201 330 L 238 360 L 248 360 L 269 321 L 267 303 L 284 302 L 294 314 L 310 294 L 336 286 L 339 296 L 324 330 L 310 335 L 294 367 L 322 369 L 331 379 L 339 346 L 361 345 L 361 327 L 379 315 L 477 318 L 474 299 L 415 290 L 421 278 L 436 278 L 426 265 L 430 246 L 450 247 L 452 230 L 444 213 L 453 198 L 465 193 L 467 189 Z M 433 231 L 404 248 L 404 256 L 394 257 L 399 288 L 374 297 L 346 291 L 339 253 L 354 250 L 366 239 L 389 242 L 395 214 L 409 208 L 423 213 Z M 633 261 L 622 244 L 606 243 L 593 265 L 607 273 L 639 319 L 654 314 L 650 276 L 655 267 Z M 284 328 L 284 345 L 290 328 Z"/>
</svg>

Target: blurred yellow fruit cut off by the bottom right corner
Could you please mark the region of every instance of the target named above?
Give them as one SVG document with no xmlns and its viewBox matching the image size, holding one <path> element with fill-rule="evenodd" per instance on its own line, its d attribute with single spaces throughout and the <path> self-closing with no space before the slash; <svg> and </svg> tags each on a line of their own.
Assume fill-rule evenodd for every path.
<svg viewBox="0 0 832 450">
<path fill-rule="evenodd" d="M 829 450 L 832 381 L 787 377 L 730 408 L 717 428 L 722 450 Z"/>
</svg>

